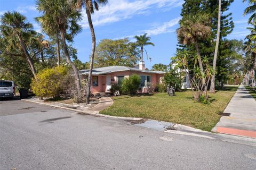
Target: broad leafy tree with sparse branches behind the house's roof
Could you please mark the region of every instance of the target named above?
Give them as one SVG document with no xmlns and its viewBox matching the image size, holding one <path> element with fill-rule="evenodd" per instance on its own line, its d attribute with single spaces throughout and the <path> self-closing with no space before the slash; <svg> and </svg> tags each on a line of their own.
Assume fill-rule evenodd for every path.
<svg viewBox="0 0 256 170">
<path fill-rule="evenodd" d="M 130 43 L 128 38 L 103 39 L 95 50 L 95 64 L 98 67 L 110 65 L 131 67 L 137 63 L 138 54 L 135 43 Z"/>
</svg>

